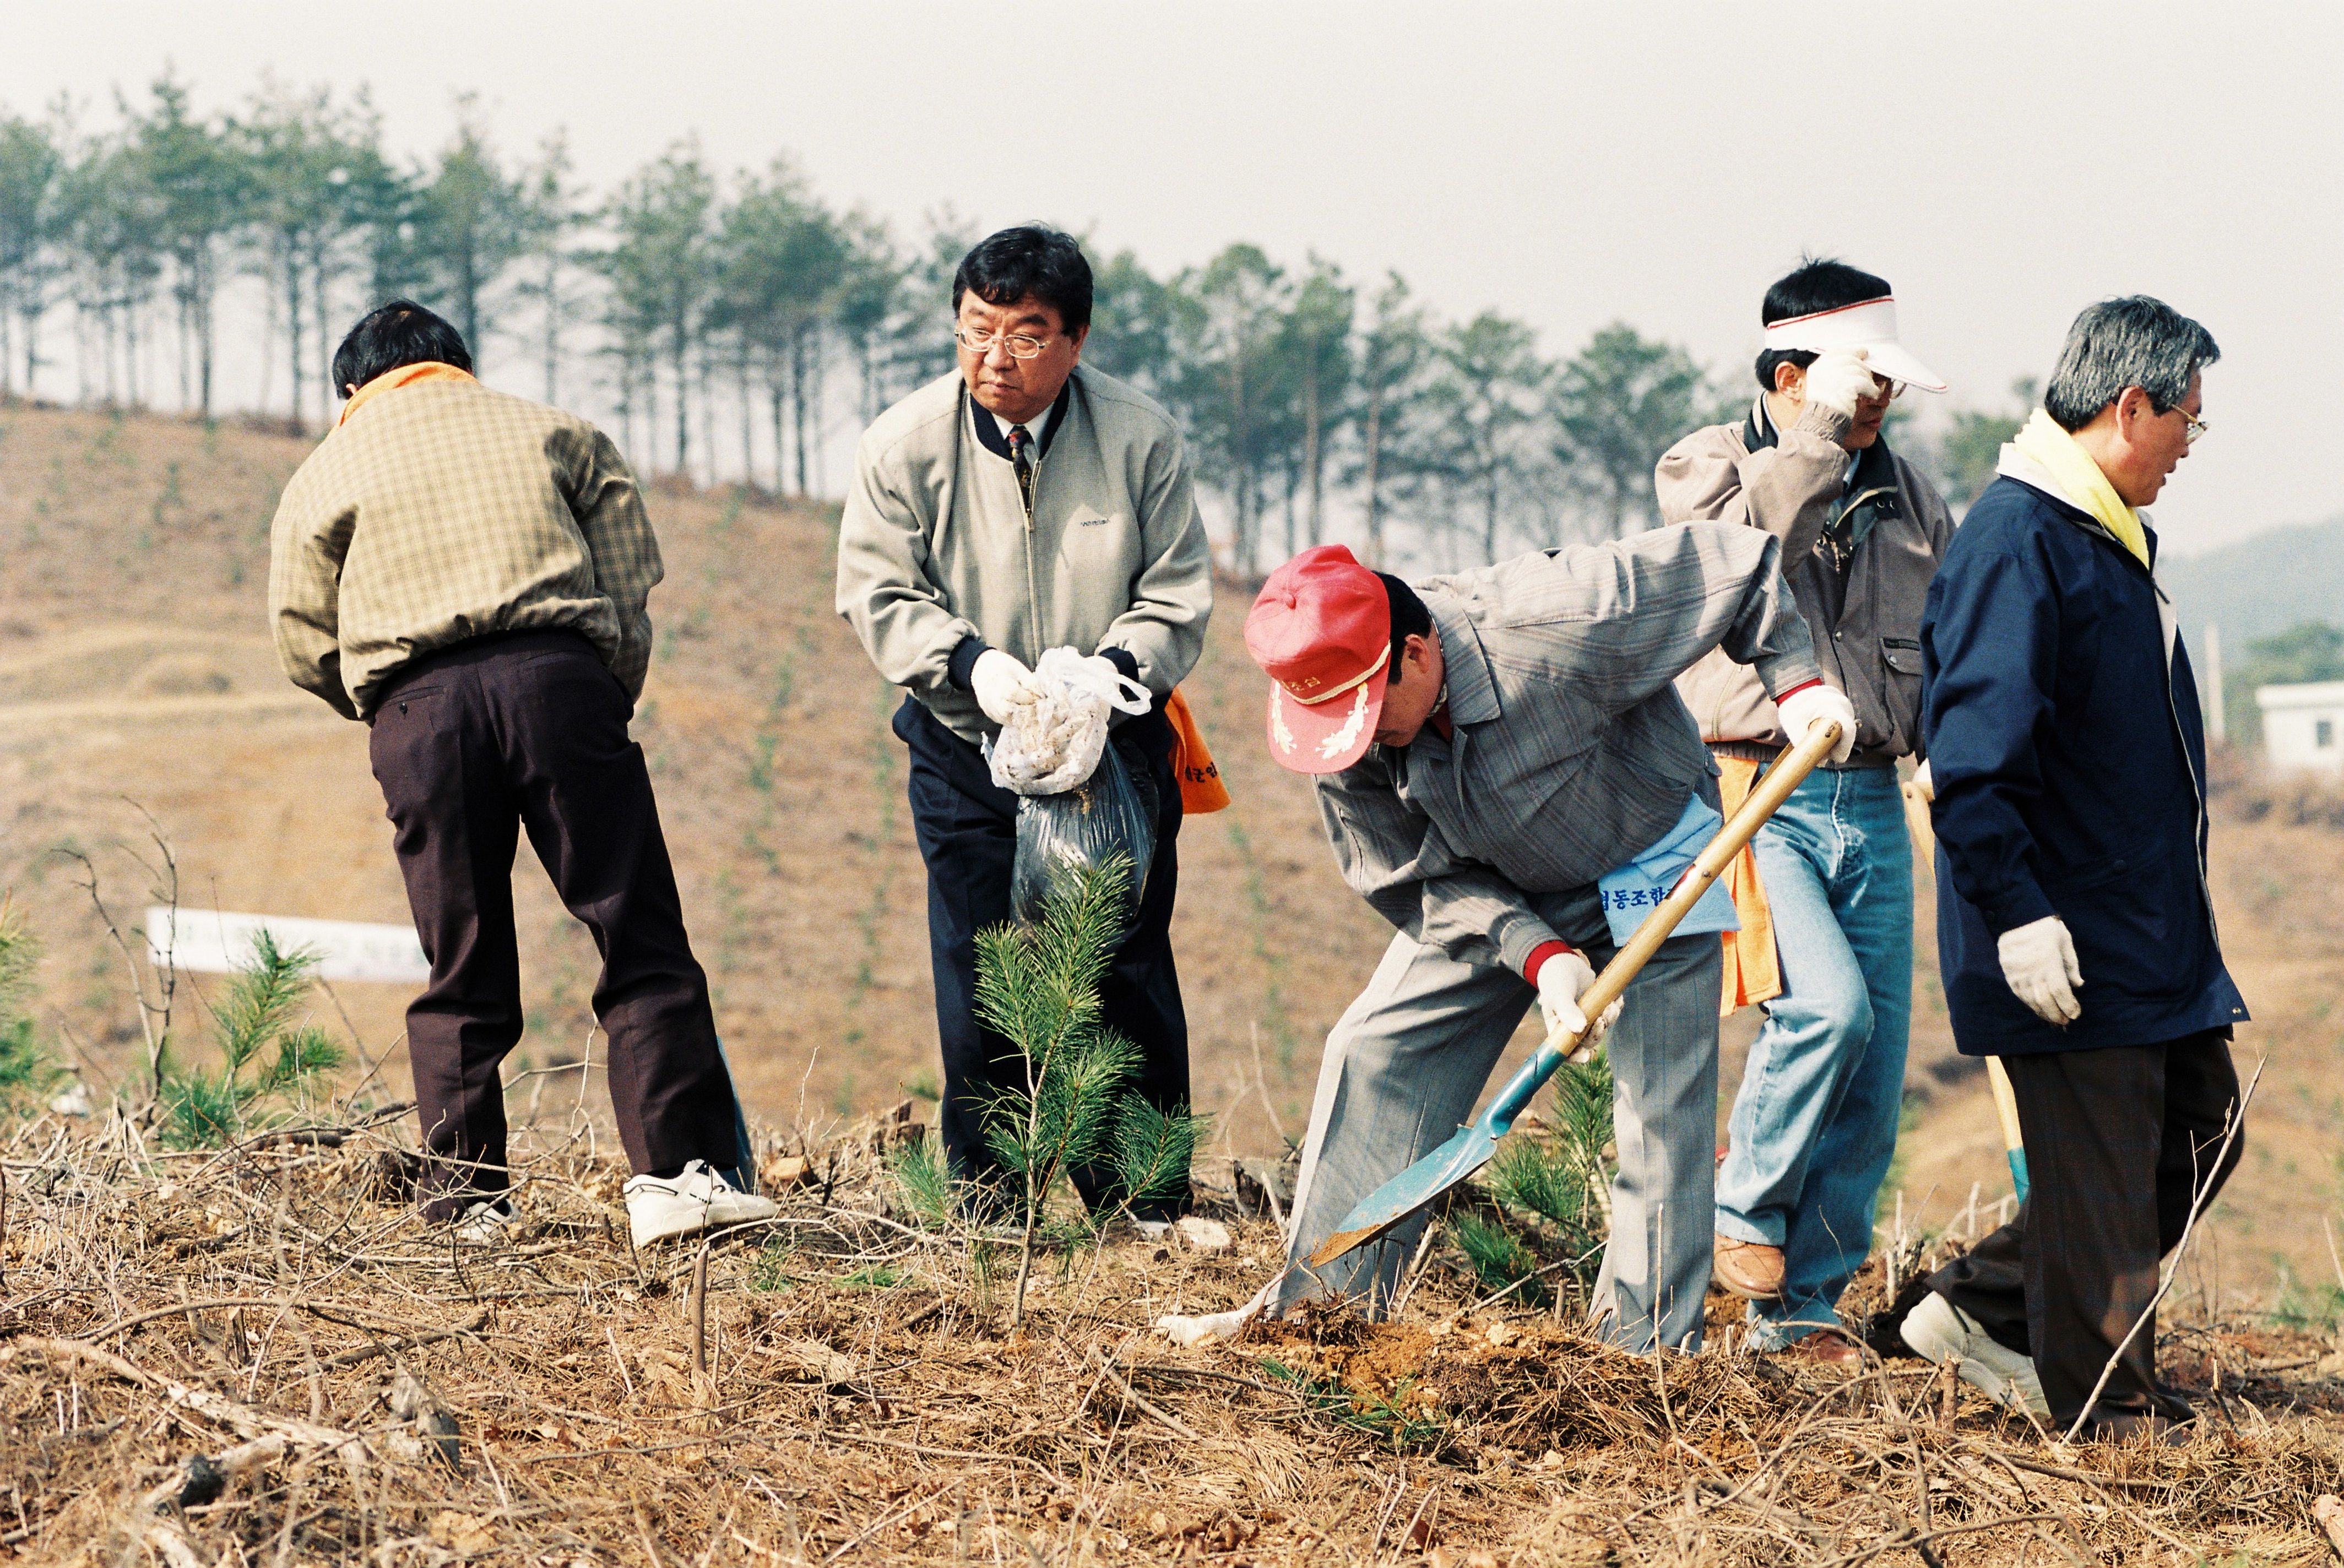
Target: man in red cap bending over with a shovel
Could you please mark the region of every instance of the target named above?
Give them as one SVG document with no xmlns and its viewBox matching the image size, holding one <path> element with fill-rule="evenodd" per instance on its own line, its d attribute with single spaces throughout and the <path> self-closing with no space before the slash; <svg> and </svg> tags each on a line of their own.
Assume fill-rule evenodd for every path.
<svg viewBox="0 0 2344 1568">
<path fill-rule="evenodd" d="M 1245 647 L 1270 675 L 1270 755 L 1317 783 L 1336 863 L 1397 935 L 1327 1036 L 1280 1305 L 1383 1308 L 1423 1233 L 1310 1273 L 1355 1202 L 1453 1134 L 1535 1001 L 1580 1029 L 1596 966 L 1718 827 L 1716 769 L 1671 684 L 1709 649 L 1784 727 L 1840 724 L 1781 577 L 1781 541 L 1688 523 L 1413 588 L 1338 544 L 1261 588 Z M 1704 900 L 1610 1029 L 1620 1172 L 1594 1317 L 1631 1350 L 1692 1350 L 1709 1287 L 1718 930 Z M 1599 1020 L 1599 1034 L 1608 1020 Z"/>
</svg>

